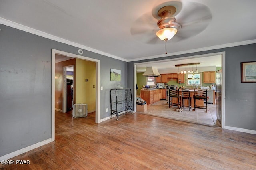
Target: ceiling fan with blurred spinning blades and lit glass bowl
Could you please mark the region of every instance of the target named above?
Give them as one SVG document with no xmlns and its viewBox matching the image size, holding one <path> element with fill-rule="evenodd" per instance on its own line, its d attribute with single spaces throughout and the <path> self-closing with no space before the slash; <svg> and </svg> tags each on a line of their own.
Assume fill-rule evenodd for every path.
<svg viewBox="0 0 256 170">
<path fill-rule="evenodd" d="M 170 1 L 140 16 L 131 27 L 132 36 L 147 44 L 178 42 L 202 32 L 212 19 L 210 9 L 197 2 Z"/>
</svg>

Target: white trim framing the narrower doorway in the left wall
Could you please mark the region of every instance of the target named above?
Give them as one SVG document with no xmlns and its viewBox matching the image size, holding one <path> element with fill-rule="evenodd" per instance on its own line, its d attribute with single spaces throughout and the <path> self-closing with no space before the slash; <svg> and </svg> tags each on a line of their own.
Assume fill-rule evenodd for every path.
<svg viewBox="0 0 256 170">
<path fill-rule="evenodd" d="M 52 137 L 51 140 L 55 140 L 55 55 L 60 54 L 66 57 L 84 59 L 96 63 L 96 99 L 95 99 L 95 123 L 100 123 L 100 60 L 81 55 L 52 49 Z"/>
</svg>

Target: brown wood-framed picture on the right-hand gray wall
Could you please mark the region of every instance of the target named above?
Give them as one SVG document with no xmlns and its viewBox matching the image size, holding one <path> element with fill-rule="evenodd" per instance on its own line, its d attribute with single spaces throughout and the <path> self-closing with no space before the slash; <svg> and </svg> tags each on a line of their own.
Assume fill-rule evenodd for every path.
<svg viewBox="0 0 256 170">
<path fill-rule="evenodd" d="M 241 63 L 241 82 L 256 83 L 256 61 Z"/>
</svg>

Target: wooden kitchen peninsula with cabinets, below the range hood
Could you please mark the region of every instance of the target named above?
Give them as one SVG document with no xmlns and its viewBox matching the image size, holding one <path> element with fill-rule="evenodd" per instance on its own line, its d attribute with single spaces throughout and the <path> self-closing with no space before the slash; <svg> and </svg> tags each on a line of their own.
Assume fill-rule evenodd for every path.
<svg viewBox="0 0 256 170">
<path fill-rule="evenodd" d="M 162 89 L 141 89 L 140 98 L 145 100 L 147 105 L 152 105 L 162 99 Z"/>
</svg>

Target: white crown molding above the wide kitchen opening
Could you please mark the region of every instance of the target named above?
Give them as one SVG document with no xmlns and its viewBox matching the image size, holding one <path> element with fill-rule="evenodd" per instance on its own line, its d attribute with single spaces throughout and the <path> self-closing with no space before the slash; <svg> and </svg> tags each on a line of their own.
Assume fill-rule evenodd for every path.
<svg viewBox="0 0 256 170">
<path fill-rule="evenodd" d="M 168 56 L 181 55 L 181 54 L 188 54 L 188 53 L 196 53 L 196 52 L 200 52 L 200 51 L 208 51 L 208 50 L 213 50 L 213 49 L 221 49 L 221 48 L 235 47 L 235 46 L 248 45 L 248 44 L 253 44 L 253 43 L 256 43 L 256 39 L 254 39 L 254 40 L 242 41 L 242 42 L 227 43 L 227 44 L 222 44 L 222 45 L 215 45 L 215 46 L 204 47 L 204 48 L 198 48 L 198 49 L 191 49 L 191 50 L 187 50 L 187 51 L 179 51 L 179 52 L 175 52 L 175 53 L 168 53 L 168 54 L 161 54 L 161 55 L 153 55 L 153 56 L 142 57 L 142 58 L 136 58 L 136 59 L 128 59 L 128 62 L 131 62 L 131 61 L 141 61 L 141 60 L 154 59 L 154 58 L 161 58 L 161 57 L 168 57 Z"/>
</svg>

